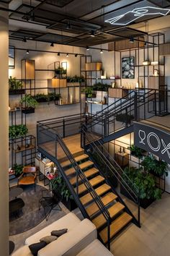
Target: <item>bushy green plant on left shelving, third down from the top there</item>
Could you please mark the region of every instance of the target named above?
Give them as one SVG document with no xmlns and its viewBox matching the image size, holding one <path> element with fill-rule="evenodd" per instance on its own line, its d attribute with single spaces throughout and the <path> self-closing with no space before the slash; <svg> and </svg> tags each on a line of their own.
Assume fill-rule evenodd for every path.
<svg viewBox="0 0 170 256">
<path fill-rule="evenodd" d="M 9 138 L 14 139 L 27 135 L 28 129 L 24 124 L 12 125 L 9 127 Z"/>
</svg>

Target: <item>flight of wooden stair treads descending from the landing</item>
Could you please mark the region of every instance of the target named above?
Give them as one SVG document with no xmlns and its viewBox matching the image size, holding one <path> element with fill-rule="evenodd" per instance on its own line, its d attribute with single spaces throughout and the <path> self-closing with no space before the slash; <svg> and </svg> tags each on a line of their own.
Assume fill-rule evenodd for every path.
<svg viewBox="0 0 170 256">
<path fill-rule="evenodd" d="M 112 188 L 107 184 L 104 176 L 100 174 L 99 169 L 94 166 L 94 163 L 91 160 L 89 160 L 89 155 L 80 153 L 80 155 L 76 156 L 74 159 L 109 212 L 111 218 L 109 239 L 112 239 L 133 220 L 133 217 L 126 212 L 125 205 L 120 202 L 119 195 L 116 195 L 112 191 Z M 78 190 L 79 200 L 82 205 L 84 205 L 89 219 L 97 227 L 100 239 L 102 239 L 104 244 L 107 244 L 108 229 L 106 218 L 104 218 L 104 215 L 101 213 L 97 203 L 94 202 L 93 197 L 88 192 L 88 189 L 82 180 L 78 179 L 77 181 L 76 170 L 71 163 L 69 163 L 69 161 L 61 161 L 60 164 L 75 192 Z M 78 182 L 78 188 L 76 187 L 76 182 Z"/>
</svg>

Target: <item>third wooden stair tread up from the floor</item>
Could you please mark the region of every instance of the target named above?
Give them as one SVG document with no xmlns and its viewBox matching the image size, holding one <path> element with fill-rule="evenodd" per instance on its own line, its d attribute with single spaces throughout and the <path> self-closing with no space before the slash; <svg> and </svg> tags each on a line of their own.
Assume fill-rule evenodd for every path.
<svg viewBox="0 0 170 256">
<path fill-rule="evenodd" d="M 107 195 L 104 195 L 104 197 L 101 198 L 103 204 L 106 206 L 110 202 L 114 201 L 117 198 L 117 195 L 113 194 L 112 192 L 109 192 Z M 94 213 L 97 213 L 99 210 L 99 207 L 97 206 L 97 203 L 94 202 L 91 205 L 89 205 L 86 208 L 86 212 L 89 214 L 89 216 L 92 216 Z"/>
</svg>

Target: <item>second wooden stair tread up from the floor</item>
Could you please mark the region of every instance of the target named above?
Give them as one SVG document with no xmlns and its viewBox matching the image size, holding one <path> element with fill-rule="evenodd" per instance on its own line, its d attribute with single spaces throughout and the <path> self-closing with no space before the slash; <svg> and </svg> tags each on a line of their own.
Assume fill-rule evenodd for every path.
<svg viewBox="0 0 170 256">
<path fill-rule="evenodd" d="M 116 216 L 117 213 L 119 213 L 124 208 L 125 208 L 125 205 L 122 205 L 120 202 L 116 202 L 115 205 L 112 205 L 111 207 L 108 208 L 110 218 L 113 218 L 114 216 Z M 107 223 L 102 213 L 96 218 L 94 218 L 92 222 L 97 227 L 97 229 L 99 229 L 101 226 Z"/>
</svg>

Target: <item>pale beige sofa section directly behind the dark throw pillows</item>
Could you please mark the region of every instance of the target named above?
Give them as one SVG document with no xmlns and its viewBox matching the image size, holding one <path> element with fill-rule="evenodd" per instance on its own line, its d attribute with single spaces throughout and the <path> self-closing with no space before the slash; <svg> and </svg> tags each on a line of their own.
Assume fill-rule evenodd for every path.
<svg viewBox="0 0 170 256">
<path fill-rule="evenodd" d="M 74 229 L 80 223 L 80 219 L 76 217 L 74 213 L 68 213 L 66 216 L 63 216 L 58 221 L 53 222 L 52 224 L 46 226 L 44 229 L 38 231 L 32 236 L 28 237 L 25 240 L 25 244 L 30 245 L 37 242 L 40 242 L 40 239 L 44 236 L 50 236 L 50 232 L 58 229 Z M 47 222 L 48 223 L 48 222 Z"/>
</svg>

